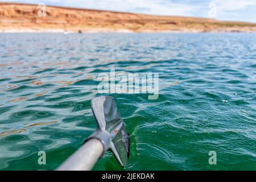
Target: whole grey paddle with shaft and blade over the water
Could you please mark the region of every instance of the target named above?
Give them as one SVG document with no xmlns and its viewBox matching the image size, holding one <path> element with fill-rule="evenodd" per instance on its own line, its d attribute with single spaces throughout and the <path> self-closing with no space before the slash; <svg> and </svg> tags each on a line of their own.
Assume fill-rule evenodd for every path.
<svg viewBox="0 0 256 182">
<path fill-rule="evenodd" d="M 85 140 L 79 150 L 57 168 L 58 171 L 90 170 L 106 150 L 113 152 L 122 167 L 126 166 L 130 137 L 113 97 L 93 98 L 91 106 L 97 130 Z"/>
</svg>

